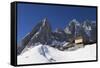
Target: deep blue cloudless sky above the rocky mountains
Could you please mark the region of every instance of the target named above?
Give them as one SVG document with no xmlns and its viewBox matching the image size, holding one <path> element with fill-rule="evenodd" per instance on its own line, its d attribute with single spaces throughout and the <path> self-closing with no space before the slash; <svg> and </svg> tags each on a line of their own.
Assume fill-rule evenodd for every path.
<svg viewBox="0 0 100 68">
<path fill-rule="evenodd" d="M 64 28 L 72 20 L 96 20 L 96 8 L 74 6 L 52 6 L 18 3 L 17 5 L 17 39 L 20 41 L 42 19 L 47 17 L 52 26 Z"/>
</svg>

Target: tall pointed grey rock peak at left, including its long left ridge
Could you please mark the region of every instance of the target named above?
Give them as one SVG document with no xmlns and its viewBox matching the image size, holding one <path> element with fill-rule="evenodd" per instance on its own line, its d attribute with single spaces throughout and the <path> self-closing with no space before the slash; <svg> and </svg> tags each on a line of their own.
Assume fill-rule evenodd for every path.
<svg viewBox="0 0 100 68">
<path fill-rule="evenodd" d="M 32 31 L 27 34 L 21 40 L 21 47 L 18 49 L 18 54 L 22 52 L 22 50 L 26 46 L 32 46 L 35 43 L 43 43 L 48 42 L 51 36 L 51 26 L 47 21 L 47 18 L 41 20 L 36 26 L 33 27 Z"/>
</svg>

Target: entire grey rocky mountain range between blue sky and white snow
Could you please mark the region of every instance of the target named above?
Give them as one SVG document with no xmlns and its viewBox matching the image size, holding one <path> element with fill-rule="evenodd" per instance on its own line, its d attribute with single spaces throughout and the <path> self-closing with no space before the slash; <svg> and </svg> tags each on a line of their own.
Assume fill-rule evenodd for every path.
<svg viewBox="0 0 100 68">
<path fill-rule="evenodd" d="M 52 47 L 62 46 L 76 37 L 83 38 L 83 44 L 96 43 L 96 22 L 86 20 L 82 23 L 73 19 L 64 29 L 51 30 L 47 18 L 40 21 L 20 43 L 18 43 L 17 54 L 19 55 L 25 47 L 36 46 L 39 43 Z"/>
</svg>

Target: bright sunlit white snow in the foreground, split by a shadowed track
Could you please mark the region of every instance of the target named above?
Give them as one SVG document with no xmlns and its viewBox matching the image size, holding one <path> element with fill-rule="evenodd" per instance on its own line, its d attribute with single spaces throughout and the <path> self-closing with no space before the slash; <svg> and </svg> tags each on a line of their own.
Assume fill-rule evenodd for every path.
<svg viewBox="0 0 100 68">
<path fill-rule="evenodd" d="M 51 63 L 46 57 L 40 54 L 39 49 L 43 45 L 29 48 L 28 51 L 18 56 L 18 64 Z M 96 44 L 87 45 L 75 51 L 59 51 L 58 49 L 46 46 L 47 57 L 54 59 L 54 62 L 70 62 L 96 60 Z"/>
</svg>

